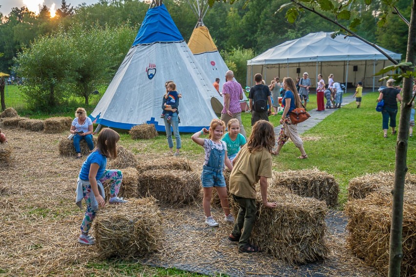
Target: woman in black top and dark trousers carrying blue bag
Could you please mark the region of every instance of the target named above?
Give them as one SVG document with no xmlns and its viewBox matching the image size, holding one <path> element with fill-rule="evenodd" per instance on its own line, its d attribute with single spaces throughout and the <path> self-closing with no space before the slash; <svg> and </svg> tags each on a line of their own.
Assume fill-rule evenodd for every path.
<svg viewBox="0 0 416 277">
<path fill-rule="evenodd" d="M 392 135 L 395 135 L 396 130 L 396 115 L 397 115 L 397 100 L 401 101 L 400 90 L 393 87 L 395 80 L 389 79 L 387 81 L 387 87 L 380 92 L 380 96 L 377 101 L 384 100 L 383 110 L 381 114 L 383 116 L 383 132 L 384 138 L 387 138 L 387 129 L 389 129 L 389 118 L 390 127 L 392 127 Z"/>
</svg>

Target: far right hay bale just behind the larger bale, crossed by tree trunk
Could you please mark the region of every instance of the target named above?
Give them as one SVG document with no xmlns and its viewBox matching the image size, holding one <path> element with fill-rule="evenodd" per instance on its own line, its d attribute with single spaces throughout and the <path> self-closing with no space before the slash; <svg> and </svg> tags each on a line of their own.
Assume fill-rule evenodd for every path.
<svg viewBox="0 0 416 277">
<path fill-rule="evenodd" d="M 405 190 L 416 190 L 416 174 L 406 174 Z M 395 184 L 394 172 L 366 174 L 350 180 L 348 199 L 362 199 L 375 191 L 391 191 Z"/>
</svg>

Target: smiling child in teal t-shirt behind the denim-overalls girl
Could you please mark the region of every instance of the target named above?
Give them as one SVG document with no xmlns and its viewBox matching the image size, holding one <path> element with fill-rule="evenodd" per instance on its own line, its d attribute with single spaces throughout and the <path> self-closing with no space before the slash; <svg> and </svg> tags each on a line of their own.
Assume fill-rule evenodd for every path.
<svg viewBox="0 0 416 277">
<path fill-rule="evenodd" d="M 227 143 L 227 157 L 232 163 L 232 160 L 237 156 L 241 147 L 246 144 L 246 138 L 240 134 L 240 122 L 238 119 L 230 119 L 227 124 L 228 132 L 222 139 Z"/>
</svg>

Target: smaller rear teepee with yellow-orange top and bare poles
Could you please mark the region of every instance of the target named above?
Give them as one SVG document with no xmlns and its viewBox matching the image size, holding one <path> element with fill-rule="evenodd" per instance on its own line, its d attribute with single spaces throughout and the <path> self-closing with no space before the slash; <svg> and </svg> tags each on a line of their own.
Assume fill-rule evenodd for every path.
<svg viewBox="0 0 416 277">
<path fill-rule="evenodd" d="M 229 68 L 221 57 L 217 46 L 215 46 L 215 43 L 209 34 L 208 28 L 203 22 L 203 18 L 208 11 L 208 1 L 197 0 L 196 5 L 192 4 L 189 0 L 188 2 L 198 18 L 195 29 L 193 29 L 192 35 L 188 41 L 189 49 L 198 61 L 201 71 L 203 71 L 207 75 L 209 81 L 211 81 L 211 84 L 216 78 L 220 79 L 220 92 L 222 92 L 223 85 L 226 82 L 225 75 Z M 247 97 L 243 93 L 243 101 L 246 100 Z"/>
</svg>

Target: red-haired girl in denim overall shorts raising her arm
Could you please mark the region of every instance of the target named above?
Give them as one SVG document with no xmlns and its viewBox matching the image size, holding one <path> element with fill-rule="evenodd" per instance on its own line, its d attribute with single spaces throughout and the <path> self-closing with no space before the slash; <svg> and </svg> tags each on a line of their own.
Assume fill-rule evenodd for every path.
<svg viewBox="0 0 416 277">
<path fill-rule="evenodd" d="M 234 222 L 234 217 L 229 211 L 229 202 L 227 196 L 227 186 L 225 183 L 223 168 L 224 164 L 232 170 L 232 164 L 227 157 L 227 144 L 221 140 L 225 131 L 225 123 L 219 119 L 212 119 L 209 125 L 209 131 L 203 128 L 200 132 L 192 135 L 191 139 L 204 147 L 205 161 L 201 174 L 201 182 L 204 190 L 204 199 L 202 206 L 205 213 L 205 224 L 209 227 L 218 227 L 219 224 L 211 216 L 211 196 L 212 188 L 215 187 L 218 196 L 221 199 L 221 206 L 224 210 L 224 220 Z M 208 139 L 199 138 L 201 135 L 208 135 Z"/>
</svg>

